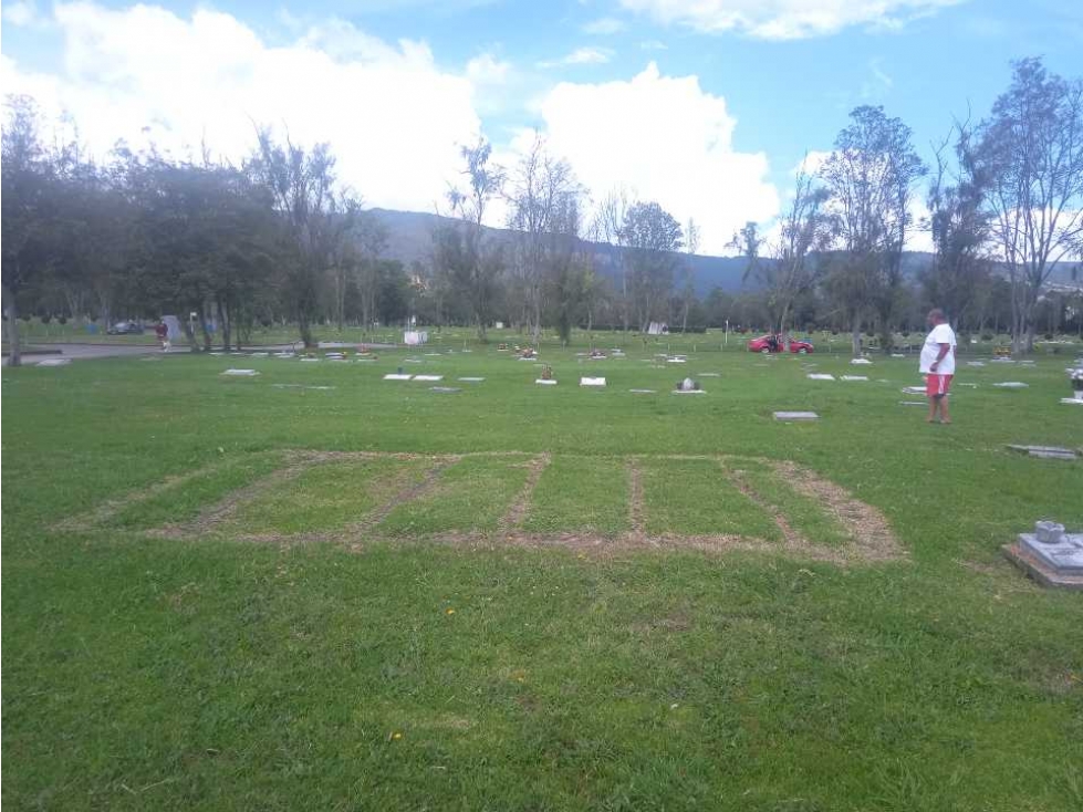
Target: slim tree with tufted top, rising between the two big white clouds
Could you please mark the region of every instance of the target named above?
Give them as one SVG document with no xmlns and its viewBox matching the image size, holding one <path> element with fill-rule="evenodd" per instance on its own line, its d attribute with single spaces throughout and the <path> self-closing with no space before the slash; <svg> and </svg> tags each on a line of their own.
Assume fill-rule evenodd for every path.
<svg viewBox="0 0 1083 812">
<path fill-rule="evenodd" d="M 503 252 L 499 243 L 487 238 L 483 222 L 489 205 L 503 189 L 504 171 L 491 160 L 492 146 L 485 138 L 479 138 L 472 147 L 461 147 L 460 154 L 466 164 L 462 174 L 467 187 L 465 190 L 454 187 L 448 192 L 451 212 L 459 222 L 437 230 L 436 257 L 438 267 L 450 274 L 466 295 L 478 340 L 487 342 L 497 283 L 503 272 Z"/>
</svg>

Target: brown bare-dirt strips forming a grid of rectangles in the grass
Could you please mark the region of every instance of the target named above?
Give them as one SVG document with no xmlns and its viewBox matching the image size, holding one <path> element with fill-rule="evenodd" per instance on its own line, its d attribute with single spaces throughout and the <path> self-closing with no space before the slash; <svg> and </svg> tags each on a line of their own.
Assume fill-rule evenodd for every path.
<svg viewBox="0 0 1083 812">
<path fill-rule="evenodd" d="M 562 454 L 575 457 L 580 455 Z M 383 535 L 378 525 L 398 506 L 414 501 L 430 493 L 438 485 L 444 472 L 467 458 L 479 457 L 528 457 L 527 467 L 530 469 L 522 489 L 512 501 L 498 523 L 494 532 L 448 532 L 403 538 Z M 472 549 L 527 548 L 527 549 L 565 549 L 594 554 L 614 554 L 647 550 L 695 550 L 705 553 L 720 553 L 731 550 L 747 552 L 783 553 L 790 558 L 812 561 L 823 561 L 840 566 L 852 563 L 883 563 L 907 560 L 908 552 L 902 546 L 892 532 L 887 519 L 875 508 L 855 499 L 848 491 L 834 482 L 821 478 L 814 471 L 791 460 L 774 460 L 761 457 L 739 455 L 624 455 L 624 465 L 628 473 L 628 517 L 631 530 L 618 535 L 601 535 L 596 533 L 530 533 L 518 528 L 527 516 L 530 498 L 538 487 L 545 468 L 552 462 L 550 451 L 531 454 L 528 451 L 468 451 L 464 454 L 416 454 L 405 451 L 314 451 L 288 450 L 284 452 L 284 466 L 261 477 L 254 482 L 229 493 L 225 499 L 202 510 L 199 516 L 188 522 L 167 524 L 147 531 L 134 531 L 136 534 L 152 535 L 171 540 L 188 540 L 214 537 L 221 523 L 231 517 L 241 504 L 244 504 L 270 488 L 283 481 L 300 476 L 309 468 L 325 462 L 340 460 L 363 459 L 424 459 L 433 462 L 420 482 L 397 490 L 384 503 L 369 511 L 362 520 L 351 523 L 340 531 L 312 533 L 232 533 L 229 538 L 241 542 L 273 543 L 281 545 L 308 544 L 313 542 L 333 542 L 346 544 L 352 550 L 361 550 L 374 543 L 409 544 L 447 544 L 468 546 Z M 619 457 L 617 457 L 619 458 Z M 711 460 L 718 465 L 721 476 L 732 483 L 743 496 L 771 516 L 782 533 L 782 543 L 753 537 L 735 534 L 689 534 L 663 533 L 652 535 L 646 532 L 646 504 L 644 499 L 643 469 L 644 460 Z M 759 493 L 741 475 L 741 461 L 752 461 L 767 465 L 781 479 L 791 485 L 798 492 L 816 500 L 847 531 L 850 542 L 840 546 L 816 544 L 796 531 L 787 520 L 779 506 Z M 184 483 L 188 479 L 222 467 L 221 464 L 206 466 L 179 477 L 173 477 L 156 486 L 150 486 L 137 493 L 111 500 L 102 507 L 64 520 L 61 524 L 70 530 L 93 530 L 94 527 L 84 523 L 85 517 L 94 517 L 100 522 L 115 514 L 129 504 L 162 493 L 165 490 Z M 406 472 L 403 472 L 406 476 Z M 101 517 L 104 517 L 101 518 Z M 60 525 L 58 525 L 60 527 Z"/>
</svg>

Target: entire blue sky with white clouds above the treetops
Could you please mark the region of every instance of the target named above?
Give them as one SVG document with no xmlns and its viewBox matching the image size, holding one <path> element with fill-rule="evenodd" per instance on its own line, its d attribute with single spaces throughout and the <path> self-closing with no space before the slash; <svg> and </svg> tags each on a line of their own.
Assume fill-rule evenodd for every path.
<svg viewBox="0 0 1083 812">
<path fill-rule="evenodd" d="M 69 110 L 100 149 L 143 122 L 167 146 L 231 154 L 252 118 L 284 122 L 330 139 L 373 205 L 423 210 L 471 129 L 513 163 L 535 127 L 595 197 L 659 198 L 716 252 L 771 220 L 804 152 L 830 149 L 858 104 L 929 155 L 952 116 L 988 112 L 1011 60 L 1083 74 L 1083 3 L 1058 0 L 148 6 L 6 3 L 3 91 Z"/>
</svg>

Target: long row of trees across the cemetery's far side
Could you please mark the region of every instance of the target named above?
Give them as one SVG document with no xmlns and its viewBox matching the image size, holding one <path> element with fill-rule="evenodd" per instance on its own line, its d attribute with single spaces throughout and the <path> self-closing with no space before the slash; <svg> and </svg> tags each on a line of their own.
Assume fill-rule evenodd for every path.
<svg viewBox="0 0 1083 812">
<path fill-rule="evenodd" d="M 699 226 L 615 190 L 601 200 L 542 137 L 510 166 L 480 138 L 461 147 L 426 261 L 384 258 L 387 233 L 341 183 L 326 144 L 257 128 L 240 163 L 177 159 L 119 144 L 105 163 L 77 134 L 45 133 L 33 100 L 8 100 L 2 138 L 3 309 L 12 362 L 20 313 L 97 319 L 176 312 L 195 348 L 209 323 L 231 348 L 256 325 L 506 322 L 538 342 L 576 326 L 646 332 L 733 325 L 878 332 L 891 348 L 941 306 L 962 331 L 1083 326 L 1083 296 L 1051 291 L 1083 254 L 1083 82 L 1013 64 L 980 121 L 956 121 L 927 165 L 913 133 L 861 106 L 820 166 L 805 166 L 779 221 L 748 223 L 731 247 L 747 290 L 697 296 Z M 63 131 L 60 131 L 63 132 Z M 926 217 L 916 217 L 924 202 Z M 486 227 L 497 209 L 506 232 Z M 923 229 L 933 254 L 912 268 Z M 510 235 L 510 236 L 509 236 Z M 601 250 L 608 243 L 611 250 Z M 1077 273 L 1075 279 L 1077 279 Z"/>
</svg>

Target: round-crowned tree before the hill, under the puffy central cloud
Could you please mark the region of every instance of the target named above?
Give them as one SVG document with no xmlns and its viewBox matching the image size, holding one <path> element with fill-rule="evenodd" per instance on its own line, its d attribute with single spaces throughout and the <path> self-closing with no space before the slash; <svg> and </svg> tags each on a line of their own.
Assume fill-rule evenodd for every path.
<svg viewBox="0 0 1083 812">
<path fill-rule="evenodd" d="M 641 333 L 668 314 L 677 251 L 684 244 L 680 223 L 656 202 L 635 202 L 618 231 L 631 271 L 631 300 Z"/>
</svg>

